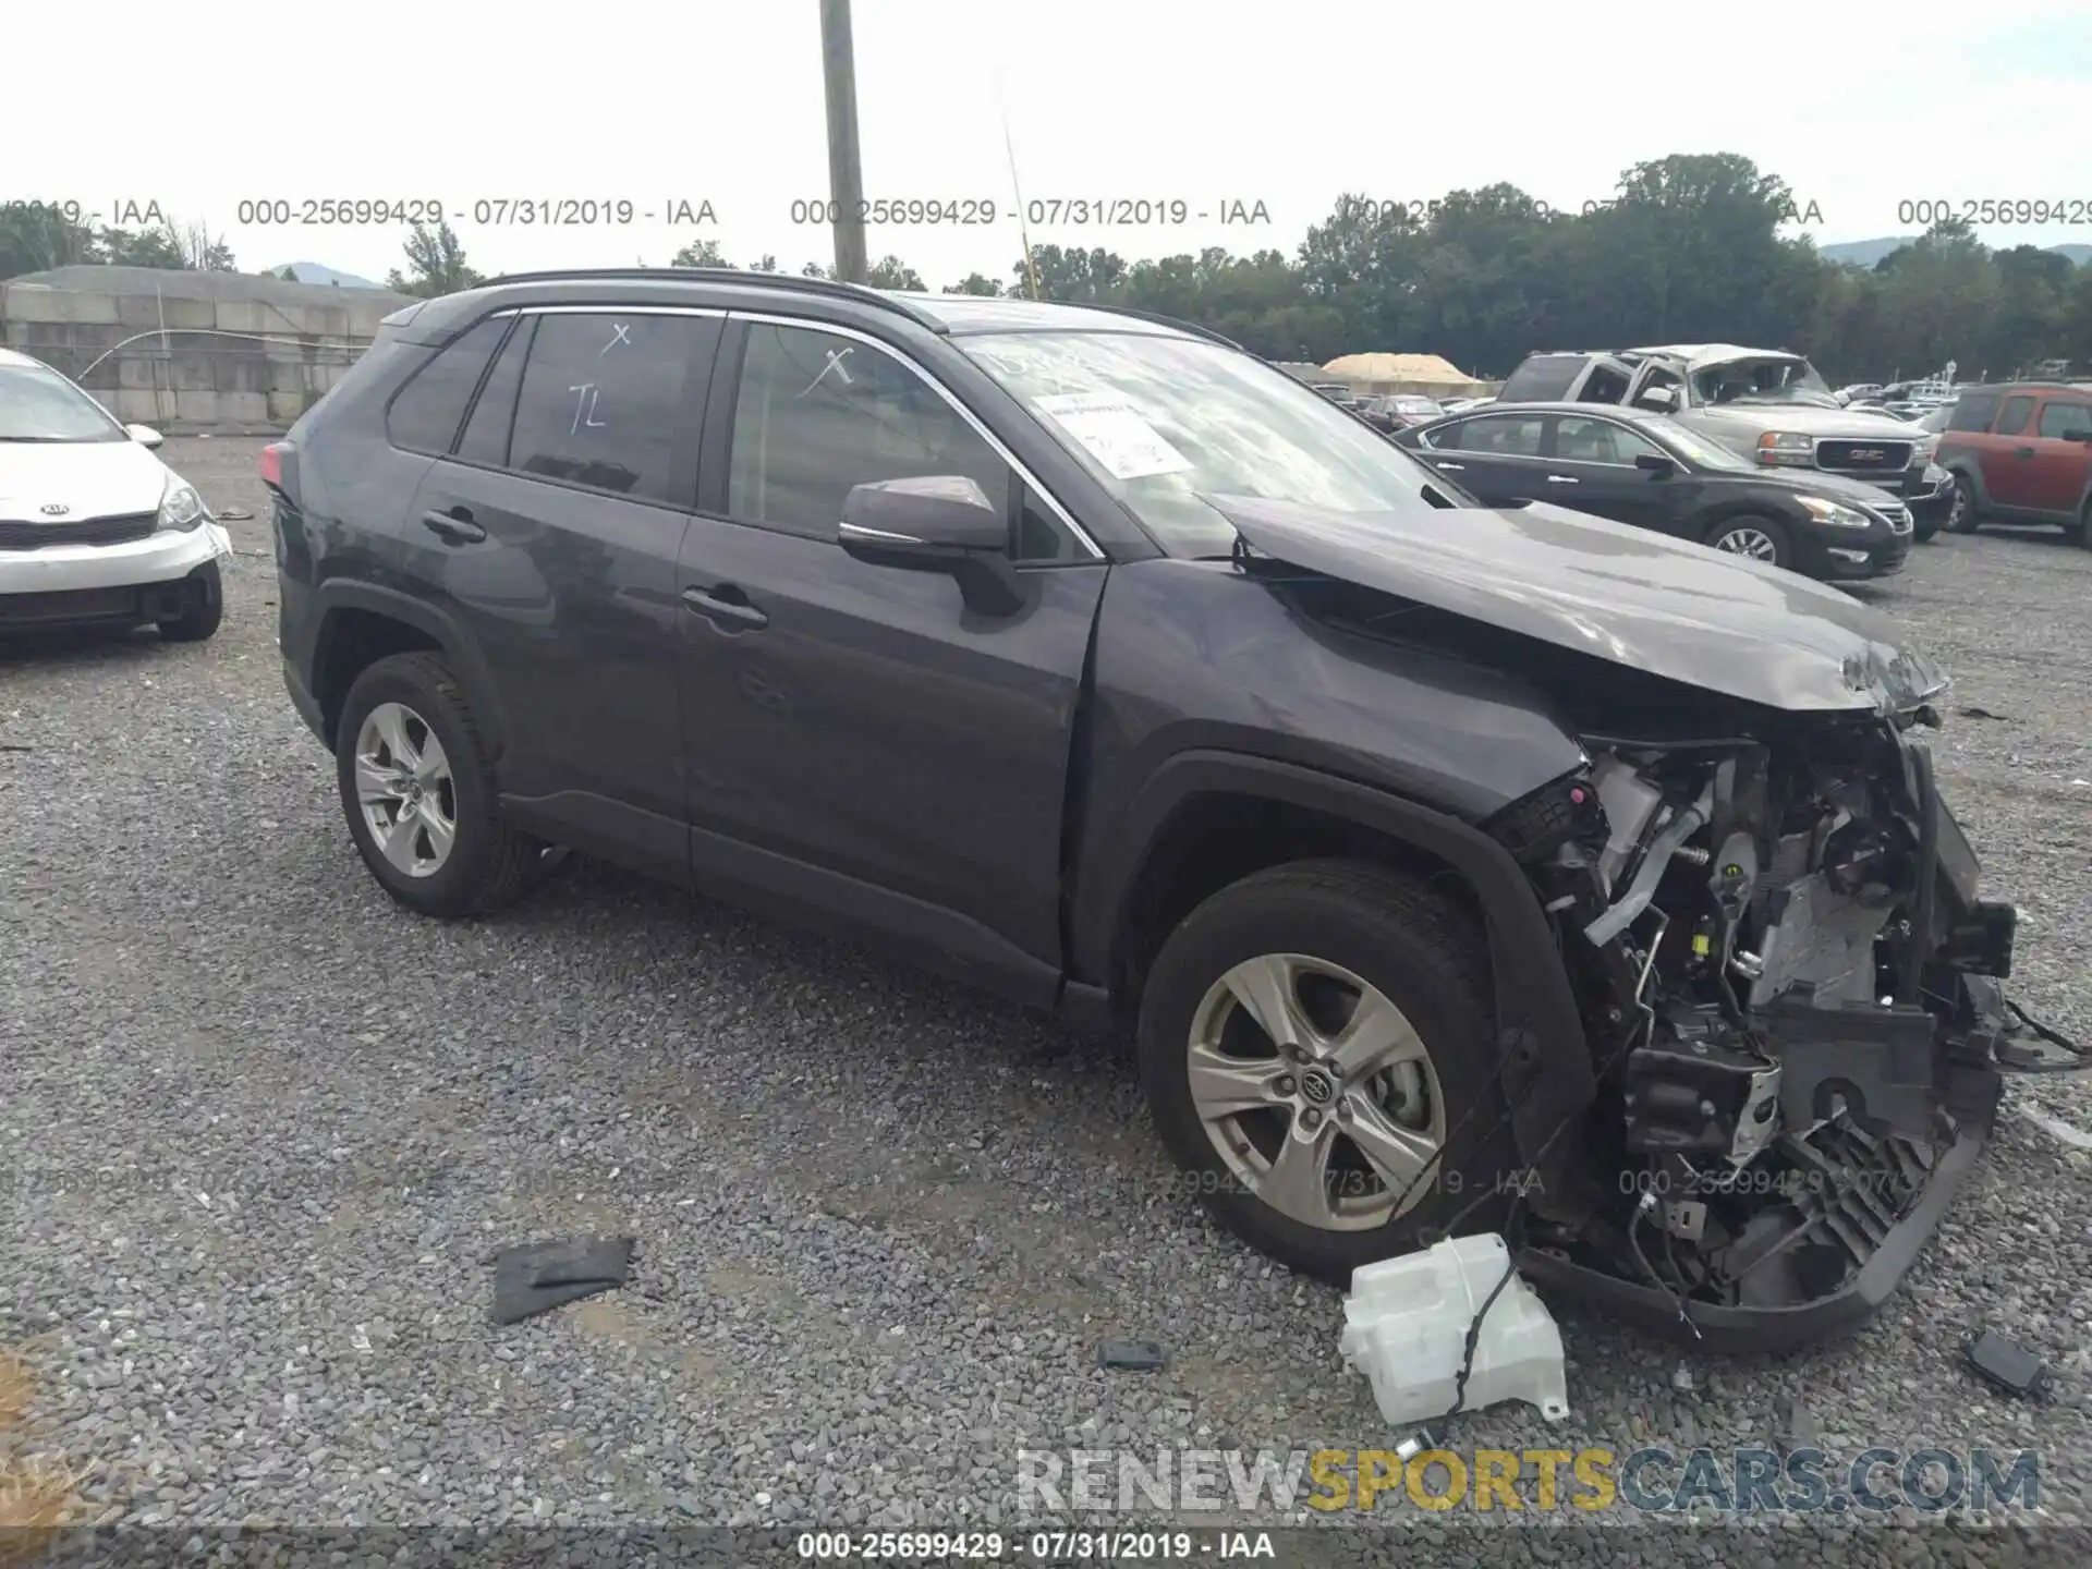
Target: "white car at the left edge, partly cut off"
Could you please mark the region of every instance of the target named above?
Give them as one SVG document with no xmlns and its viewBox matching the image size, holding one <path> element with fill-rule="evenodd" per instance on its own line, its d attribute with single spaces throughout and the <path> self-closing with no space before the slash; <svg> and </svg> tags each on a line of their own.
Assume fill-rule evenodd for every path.
<svg viewBox="0 0 2092 1569">
<path fill-rule="evenodd" d="M 199 642 L 224 615 L 232 538 L 153 456 L 159 431 L 117 425 L 42 360 L 0 349 L 0 632 L 134 628 Z"/>
</svg>

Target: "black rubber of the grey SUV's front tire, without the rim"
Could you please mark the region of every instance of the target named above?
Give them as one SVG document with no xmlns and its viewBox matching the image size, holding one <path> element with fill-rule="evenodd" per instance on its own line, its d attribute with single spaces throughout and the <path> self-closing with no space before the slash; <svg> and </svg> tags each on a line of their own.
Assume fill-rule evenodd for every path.
<svg viewBox="0 0 2092 1569">
<path fill-rule="evenodd" d="M 1414 1205 L 1381 1226 L 1324 1230 L 1280 1213 L 1230 1172 L 1207 1136 L 1190 1090 L 1192 1025 L 1220 977 L 1259 954 L 1341 964 L 1393 1002 L 1431 1054 L 1443 1096 L 1443 1155 L 1416 1184 Z M 1458 1234 L 1494 1230 L 1517 1190 L 1519 1157 L 1490 1067 L 1490 996 L 1481 927 L 1414 879 L 1345 860 L 1247 877 L 1192 910 L 1149 973 L 1138 1056 L 1157 1132 L 1226 1230 L 1331 1284 L 1349 1284 L 1360 1264 L 1439 1241 L 1456 1218 Z"/>
</svg>

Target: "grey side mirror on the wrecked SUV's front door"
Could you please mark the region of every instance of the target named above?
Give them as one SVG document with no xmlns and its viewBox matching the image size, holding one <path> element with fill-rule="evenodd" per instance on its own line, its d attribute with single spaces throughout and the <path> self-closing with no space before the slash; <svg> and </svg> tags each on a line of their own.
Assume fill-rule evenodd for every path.
<svg viewBox="0 0 2092 1569">
<path fill-rule="evenodd" d="M 1010 569 L 1008 515 L 967 475 L 851 485 L 835 540 L 872 567 L 950 573 L 985 615 L 1013 615 L 1025 602 Z"/>
</svg>

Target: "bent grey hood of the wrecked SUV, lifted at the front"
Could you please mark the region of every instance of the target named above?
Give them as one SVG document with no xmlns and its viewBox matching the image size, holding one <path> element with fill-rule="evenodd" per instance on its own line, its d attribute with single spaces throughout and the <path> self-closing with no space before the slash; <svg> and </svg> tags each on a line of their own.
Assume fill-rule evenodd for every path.
<svg viewBox="0 0 2092 1569">
<path fill-rule="evenodd" d="M 1335 513 L 1207 496 L 1249 546 L 1747 703 L 1900 713 L 1946 672 L 1849 594 L 1561 506 Z"/>
</svg>

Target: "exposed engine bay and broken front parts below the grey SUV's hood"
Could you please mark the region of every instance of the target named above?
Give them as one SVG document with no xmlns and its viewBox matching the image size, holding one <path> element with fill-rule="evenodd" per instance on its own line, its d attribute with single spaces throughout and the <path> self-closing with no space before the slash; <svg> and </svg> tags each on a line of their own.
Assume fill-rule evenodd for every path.
<svg viewBox="0 0 2092 1569">
<path fill-rule="evenodd" d="M 1975 895 L 1908 736 L 1927 720 L 1588 736 L 1588 768 L 1496 824 L 1598 1079 L 1598 1176 L 1525 1236 L 1542 1282 L 1548 1259 L 1613 1276 L 1690 1333 L 1695 1310 L 1805 1308 L 1854 1284 L 1964 1136 L 1973 1157 L 2013 908 Z"/>
</svg>

